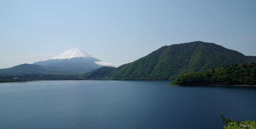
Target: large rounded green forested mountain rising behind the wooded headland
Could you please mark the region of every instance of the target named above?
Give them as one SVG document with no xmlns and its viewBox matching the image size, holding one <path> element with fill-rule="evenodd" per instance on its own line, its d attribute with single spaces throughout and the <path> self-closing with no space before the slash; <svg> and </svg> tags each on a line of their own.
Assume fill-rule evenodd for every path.
<svg viewBox="0 0 256 129">
<path fill-rule="evenodd" d="M 101 67 L 84 78 L 113 80 L 168 80 L 188 72 L 213 70 L 223 66 L 256 62 L 255 56 L 208 42 L 163 46 L 134 62 L 118 68 Z"/>
</svg>

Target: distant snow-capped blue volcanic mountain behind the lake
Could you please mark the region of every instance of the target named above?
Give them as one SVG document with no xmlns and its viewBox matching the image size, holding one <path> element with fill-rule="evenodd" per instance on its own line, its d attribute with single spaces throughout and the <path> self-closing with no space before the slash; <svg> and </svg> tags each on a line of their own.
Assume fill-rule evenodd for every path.
<svg viewBox="0 0 256 129">
<path fill-rule="evenodd" d="M 35 62 L 33 65 L 40 65 L 53 72 L 84 73 L 103 67 L 95 63 L 100 61 L 82 49 L 73 48 L 49 60 Z"/>
</svg>

